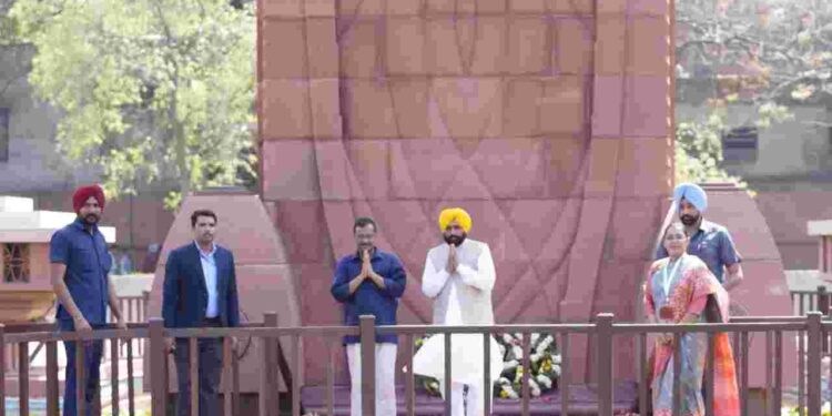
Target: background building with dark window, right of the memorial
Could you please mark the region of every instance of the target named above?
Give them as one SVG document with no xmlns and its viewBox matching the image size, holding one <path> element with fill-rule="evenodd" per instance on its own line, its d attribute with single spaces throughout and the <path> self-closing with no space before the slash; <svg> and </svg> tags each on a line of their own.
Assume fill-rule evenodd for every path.
<svg viewBox="0 0 832 416">
<path fill-rule="evenodd" d="M 677 80 L 677 122 L 707 116 L 716 97 L 710 80 Z M 723 135 L 723 168 L 757 192 L 787 270 L 818 265 L 818 242 L 806 222 L 832 217 L 832 112 L 821 103 L 792 105 L 794 119 L 751 129 L 754 108 L 733 104 Z M 824 123 L 830 125 L 824 125 Z"/>
</svg>

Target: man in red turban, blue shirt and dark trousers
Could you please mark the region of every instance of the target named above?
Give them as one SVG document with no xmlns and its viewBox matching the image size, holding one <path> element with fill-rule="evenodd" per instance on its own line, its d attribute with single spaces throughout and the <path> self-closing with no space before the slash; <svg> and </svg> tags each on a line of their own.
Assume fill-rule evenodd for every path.
<svg viewBox="0 0 832 416">
<path fill-rule="evenodd" d="M 78 217 L 72 224 L 52 234 L 49 243 L 50 275 L 58 297 L 55 316 L 61 331 L 90 334 L 93 328 L 106 325 L 106 305 L 110 305 L 118 326 L 125 328 L 119 311 L 119 301 L 109 282 L 112 258 L 98 224 L 104 209 L 104 192 L 98 185 L 80 187 L 72 196 Z M 67 349 L 67 378 L 63 396 L 63 415 L 75 416 L 75 343 L 63 343 Z M 87 415 L 93 412 L 93 399 L 99 389 L 103 341 L 84 343 L 84 402 Z"/>
</svg>

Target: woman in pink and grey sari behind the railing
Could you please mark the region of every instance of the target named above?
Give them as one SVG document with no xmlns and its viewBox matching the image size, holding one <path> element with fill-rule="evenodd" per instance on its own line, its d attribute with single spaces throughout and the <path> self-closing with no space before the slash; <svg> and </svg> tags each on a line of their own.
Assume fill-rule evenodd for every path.
<svg viewBox="0 0 832 416">
<path fill-rule="evenodd" d="M 652 264 L 645 284 L 645 308 L 652 323 L 728 322 L 728 292 L 699 257 L 687 254 L 689 242 L 681 223 L 671 223 L 664 230 L 662 244 L 669 256 Z M 703 416 L 702 377 L 708 334 L 686 333 L 681 336 L 679 357 L 674 356 L 673 349 L 673 335 L 660 335 L 650 363 L 653 415 L 672 415 L 673 361 L 680 359 L 681 415 Z M 733 363 L 728 334 L 717 334 L 713 363 L 716 416 L 740 414 Z"/>
</svg>

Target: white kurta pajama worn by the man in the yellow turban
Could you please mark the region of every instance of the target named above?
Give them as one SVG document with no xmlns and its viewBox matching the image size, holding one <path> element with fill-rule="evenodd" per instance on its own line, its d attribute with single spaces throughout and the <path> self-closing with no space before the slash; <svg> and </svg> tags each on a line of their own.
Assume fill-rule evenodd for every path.
<svg viewBox="0 0 832 416">
<path fill-rule="evenodd" d="M 457 270 L 448 274 L 446 265 L 450 248 L 442 244 L 432 248 L 422 276 L 422 292 L 434 300 L 437 325 L 493 325 L 491 290 L 495 268 L 488 244 L 466 239 L 457 247 Z M 491 343 L 490 376 L 497 381 L 503 372 L 503 356 L 494 337 Z M 454 416 L 480 416 L 484 412 L 483 335 L 457 334 L 450 337 L 451 408 Z M 445 394 L 445 339 L 432 336 L 413 358 L 415 374 L 435 377 Z M 468 386 L 464 407 L 464 386 Z M 491 388 L 491 386 L 488 386 Z M 467 408 L 467 412 L 465 409 Z"/>
</svg>

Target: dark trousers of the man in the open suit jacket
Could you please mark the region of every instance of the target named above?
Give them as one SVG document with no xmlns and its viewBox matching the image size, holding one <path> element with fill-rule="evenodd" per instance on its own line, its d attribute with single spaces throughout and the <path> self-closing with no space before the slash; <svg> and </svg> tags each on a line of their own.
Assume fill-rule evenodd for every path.
<svg viewBox="0 0 832 416">
<path fill-rule="evenodd" d="M 221 326 L 216 321 L 206 319 L 203 326 Z M 197 341 L 200 363 L 200 416 L 219 415 L 217 393 L 223 369 L 221 338 L 200 338 Z M 176 338 L 174 352 L 176 379 L 179 381 L 179 402 L 176 414 L 191 415 L 191 354 L 189 339 Z"/>
</svg>

